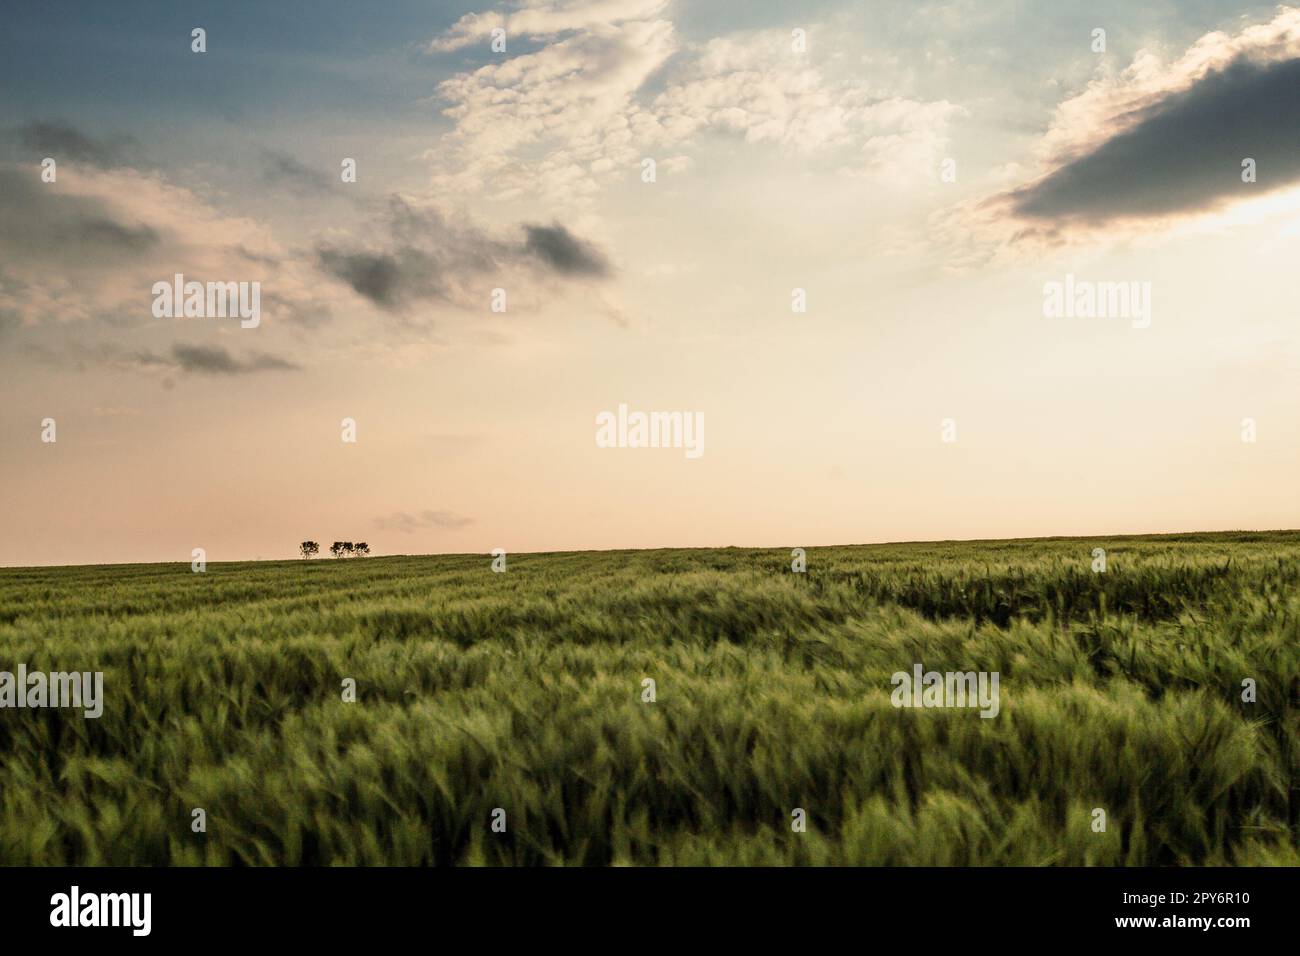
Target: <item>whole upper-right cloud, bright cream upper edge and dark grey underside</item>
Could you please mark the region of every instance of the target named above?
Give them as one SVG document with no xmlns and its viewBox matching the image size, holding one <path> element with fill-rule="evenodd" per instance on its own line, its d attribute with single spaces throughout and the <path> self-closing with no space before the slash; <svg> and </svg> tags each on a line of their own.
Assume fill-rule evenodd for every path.
<svg viewBox="0 0 1300 956">
<path fill-rule="evenodd" d="M 1300 182 L 1300 10 L 1235 36 L 1212 33 L 1173 62 L 1141 51 L 1057 107 L 1034 178 L 959 212 L 1006 243 L 1062 242 Z M 1242 161 L 1258 179 L 1243 183 Z"/>
</svg>

